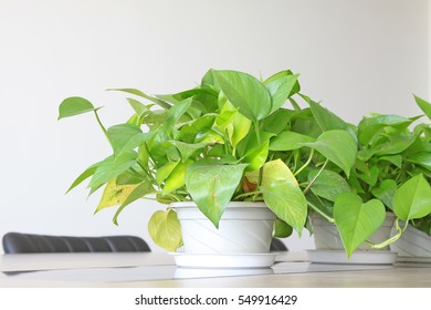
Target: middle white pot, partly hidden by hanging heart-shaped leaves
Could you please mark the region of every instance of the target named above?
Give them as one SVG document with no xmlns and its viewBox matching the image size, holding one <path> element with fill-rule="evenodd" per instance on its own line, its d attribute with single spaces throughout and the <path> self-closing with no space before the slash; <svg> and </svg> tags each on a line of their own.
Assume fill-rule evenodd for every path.
<svg viewBox="0 0 431 310">
<path fill-rule="evenodd" d="M 344 250 L 341 238 L 334 224 L 317 214 L 311 214 L 309 219 L 312 221 L 314 242 L 317 250 Z M 393 221 L 395 216 L 387 214 L 381 227 L 368 240 L 374 244 L 380 244 L 387 240 L 390 237 Z M 358 250 L 371 250 L 371 247 L 365 242 L 358 247 Z M 385 247 L 382 250 L 389 250 L 389 247 Z"/>
</svg>

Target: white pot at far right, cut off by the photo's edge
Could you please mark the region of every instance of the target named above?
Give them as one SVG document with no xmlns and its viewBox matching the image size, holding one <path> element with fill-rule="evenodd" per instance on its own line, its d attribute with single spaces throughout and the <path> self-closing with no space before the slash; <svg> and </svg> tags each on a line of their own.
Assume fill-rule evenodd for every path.
<svg viewBox="0 0 431 310">
<path fill-rule="evenodd" d="M 431 258 L 431 237 L 409 226 L 390 249 L 400 257 Z"/>
</svg>

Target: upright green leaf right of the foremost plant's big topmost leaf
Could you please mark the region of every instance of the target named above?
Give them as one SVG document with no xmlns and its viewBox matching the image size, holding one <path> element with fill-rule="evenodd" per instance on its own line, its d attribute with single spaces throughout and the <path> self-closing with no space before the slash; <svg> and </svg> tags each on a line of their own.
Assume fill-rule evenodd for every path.
<svg viewBox="0 0 431 310">
<path fill-rule="evenodd" d="M 291 74 L 278 76 L 264 83 L 272 99 L 272 107 L 270 114 L 283 106 L 287 97 L 293 92 L 294 86 L 297 85 L 298 78 L 299 74 Z"/>
</svg>

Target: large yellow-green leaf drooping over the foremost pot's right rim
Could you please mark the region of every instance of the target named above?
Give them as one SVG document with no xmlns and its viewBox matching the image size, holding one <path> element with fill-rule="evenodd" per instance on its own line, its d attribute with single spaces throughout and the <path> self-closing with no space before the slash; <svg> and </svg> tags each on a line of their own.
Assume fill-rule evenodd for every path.
<svg viewBox="0 0 431 310">
<path fill-rule="evenodd" d="M 301 236 L 307 219 L 307 200 L 299 187 L 284 180 L 273 182 L 260 189 L 266 206 Z"/>
</svg>

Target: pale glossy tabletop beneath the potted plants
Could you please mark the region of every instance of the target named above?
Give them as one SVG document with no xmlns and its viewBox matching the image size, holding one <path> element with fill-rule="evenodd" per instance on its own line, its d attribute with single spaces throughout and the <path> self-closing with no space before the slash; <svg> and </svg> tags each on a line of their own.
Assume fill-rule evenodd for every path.
<svg viewBox="0 0 431 310">
<path fill-rule="evenodd" d="M 0 257 L 0 287 L 425 287 L 431 265 L 309 264 L 278 255 L 272 268 L 178 268 L 167 254 L 29 254 Z"/>
</svg>

